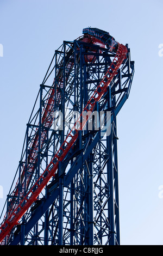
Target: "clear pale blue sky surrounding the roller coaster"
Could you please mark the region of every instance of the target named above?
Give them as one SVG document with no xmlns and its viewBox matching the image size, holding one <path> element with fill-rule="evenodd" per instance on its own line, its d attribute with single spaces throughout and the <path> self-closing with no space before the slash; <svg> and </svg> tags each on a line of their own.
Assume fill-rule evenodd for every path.
<svg viewBox="0 0 163 256">
<path fill-rule="evenodd" d="M 0 0 L 0 211 L 54 51 L 97 27 L 128 44 L 135 61 L 117 117 L 121 244 L 163 245 L 162 9 L 162 0 Z"/>
</svg>

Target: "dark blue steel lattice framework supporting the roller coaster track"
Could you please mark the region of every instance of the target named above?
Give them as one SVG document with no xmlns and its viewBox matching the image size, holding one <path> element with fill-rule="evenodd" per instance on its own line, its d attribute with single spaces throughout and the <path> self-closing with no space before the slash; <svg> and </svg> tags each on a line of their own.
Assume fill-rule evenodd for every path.
<svg viewBox="0 0 163 256">
<path fill-rule="evenodd" d="M 7 215 L 53 159 L 71 130 L 71 113 L 82 113 L 115 57 L 101 42 L 86 37 L 64 41 L 55 51 L 27 124 Z M 126 46 L 127 58 L 96 104 L 96 111 L 111 113 L 110 135 L 88 127 L 79 131 L 57 175 L 1 244 L 120 245 L 116 116 L 128 99 L 134 75 Z M 64 114 L 63 130 L 53 129 L 54 111 Z"/>
</svg>

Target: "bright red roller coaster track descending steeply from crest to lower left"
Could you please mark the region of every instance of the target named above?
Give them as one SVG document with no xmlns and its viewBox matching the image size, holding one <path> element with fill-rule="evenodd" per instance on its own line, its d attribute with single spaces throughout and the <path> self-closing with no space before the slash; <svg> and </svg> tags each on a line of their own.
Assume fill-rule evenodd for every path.
<svg viewBox="0 0 163 256">
<path fill-rule="evenodd" d="M 85 112 L 88 112 L 88 111 L 89 113 L 93 112 L 96 102 L 98 102 L 102 98 L 110 82 L 117 75 L 117 70 L 120 68 L 123 60 L 126 58 L 126 54 L 127 54 L 126 46 L 118 44 L 118 50 L 114 60 L 110 65 L 110 68 L 108 69 L 108 71 L 106 71 L 105 76 L 103 77 L 99 86 L 91 96 L 90 100 L 87 102 L 86 106 L 83 109 L 83 112 L 80 114 L 79 119 L 76 121 L 76 124 L 74 124 L 73 129 L 70 131 L 70 133 L 68 133 L 64 143 L 61 145 L 57 154 L 55 154 L 53 160 L 49 163 L 49 165 L 47 166 L 45 171 L 42 173 L 40 178 L 35 182 L 33 187 L 30 188 L 26 196 L 23 197 L 23 199 L 20 201 L 18 205 L 15 204 L 12 207 L 11 211 L 9 212 L 8 218 L 5 218 L 5 220 L 3 221 L 0 227 L 1 244 L 4 244 L 5 237 L 10 234 L 10 231 L 12 230 L 12 228 L 14 228 L 15 225 L 19 224 L 18 221 L 20 221 L 21 217 L 26 213 L 26 211 L 35 202 L 35 200 L 37 200 L 37 197 L 39 196 L 43 188 L 47 185 L 48 181 L 52 178 L 52 176 L 55 176 L 55 173 L 57 172 L 57 169 L 58 169 L 59 162 L 65 159 L 65 156 L 67 155 L 68 151 L 72 148 L 72 146 L 74 145 L 74 143 L 78 138 L 77 127 L 80 127 L 80 129 L 83 129 L 83 127 L 87 123 L 87 120 L 89 119 L 89 117 L 85 118 Z M 52 106 L 52 104 L 48 106 Z M 48 112 L 49 109 L 46 109 L 46 111 Z M 45 117 L 46 117 L 46 113 L 43 119 Z M 81 117 L 83 117 L 82 123 L 80 123 Z M 49 123 L 47 122 L 48 125 Z M 37 141 L 37 138 L 35 138 L 35 143 L 33 144 L 32 148 L 36 146 L 37 144 L 36 141 Z M 33 157 L 35 157 L 35 155 Z"/>
</svg>

